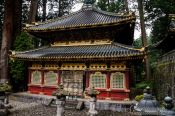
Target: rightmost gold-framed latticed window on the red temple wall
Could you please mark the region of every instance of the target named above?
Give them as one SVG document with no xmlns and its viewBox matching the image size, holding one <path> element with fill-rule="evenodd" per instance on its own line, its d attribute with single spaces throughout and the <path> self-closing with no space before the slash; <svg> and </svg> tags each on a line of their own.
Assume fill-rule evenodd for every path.
<svg viewBox="0 0 175 116">
<path fill-rule="evenodd" d="M 123 89 L 125 88 L 125 74 L 116 72 L 111 74 L 111 88 Z"/>
</svg>

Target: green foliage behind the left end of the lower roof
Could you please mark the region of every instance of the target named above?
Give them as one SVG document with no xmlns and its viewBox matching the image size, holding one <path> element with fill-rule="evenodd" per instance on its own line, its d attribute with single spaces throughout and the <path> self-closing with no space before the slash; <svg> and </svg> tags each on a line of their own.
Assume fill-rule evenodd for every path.
<svg viewBox="0 0 175 116">
<path fill-rule="evenodd" d="M 32 48 L 34 48 L 32 37 L 27 33 L 22 32 L 21 35 L 19 35 L 15 40 L 14 50 L 23 51 Z M 21 91 L 27 85 L 25 80 L 27 79 L 27 70 L 25 69 L 25 63 L 24 61 L 20 60 L 10 60 L 9 63 L 11 67 L 10 74 L 13 89 L 16 91 Z"/>
</svg>

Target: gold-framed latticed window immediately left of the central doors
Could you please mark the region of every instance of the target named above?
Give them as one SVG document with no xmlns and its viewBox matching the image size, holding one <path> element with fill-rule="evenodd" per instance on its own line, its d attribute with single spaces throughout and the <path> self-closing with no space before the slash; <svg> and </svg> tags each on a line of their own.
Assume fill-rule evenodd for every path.
<svg viewBox="0 0 175 116">
<path fill-rule="evenodd" d="M 45 85 L 57 85 L 57 73 L 49 71 L 44 74 L 44 84 Z"/>
</svg>

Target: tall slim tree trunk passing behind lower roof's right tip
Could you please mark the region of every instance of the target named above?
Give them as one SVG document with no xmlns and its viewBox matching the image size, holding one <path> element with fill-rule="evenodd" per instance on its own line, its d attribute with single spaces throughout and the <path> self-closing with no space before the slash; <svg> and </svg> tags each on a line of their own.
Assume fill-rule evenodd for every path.
<svg viewBox="0 0 175 116">
<path fill-rule="evenodd" d="M 140 15 L 140 26 L 141 26 L 141 38 L 142 38 L 142 46 L 147 48 L 147 38 L 146 38 L 146 30 L 145 30 L 145 22 L 144 22 L 144 12 L 143 12 L 143 0 L 137 0 L 138 2 L 138 10 Z M 146 49 L 146 53 L 148 53 Z M 145 57 L 145 71 L 146 71 L 146 79 L 150 79 L 150 71 L 149 71 L 149 58 Z"/>
</svg>

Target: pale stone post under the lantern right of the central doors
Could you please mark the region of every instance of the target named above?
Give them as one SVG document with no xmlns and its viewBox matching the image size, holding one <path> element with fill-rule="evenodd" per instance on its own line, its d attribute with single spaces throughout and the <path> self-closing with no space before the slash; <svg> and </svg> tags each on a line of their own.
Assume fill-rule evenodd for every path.
<svg viewBox="0 0 175 116">
<path fill-rule="evenodd" d="M 96 97 L 91 97 L 89 111 L 88 111 L 88 114 L 90 116 L 95 116 L 98 114 L 98 112 L 95 110 L 95 106 L 96 106 Z"/>
</svg>

